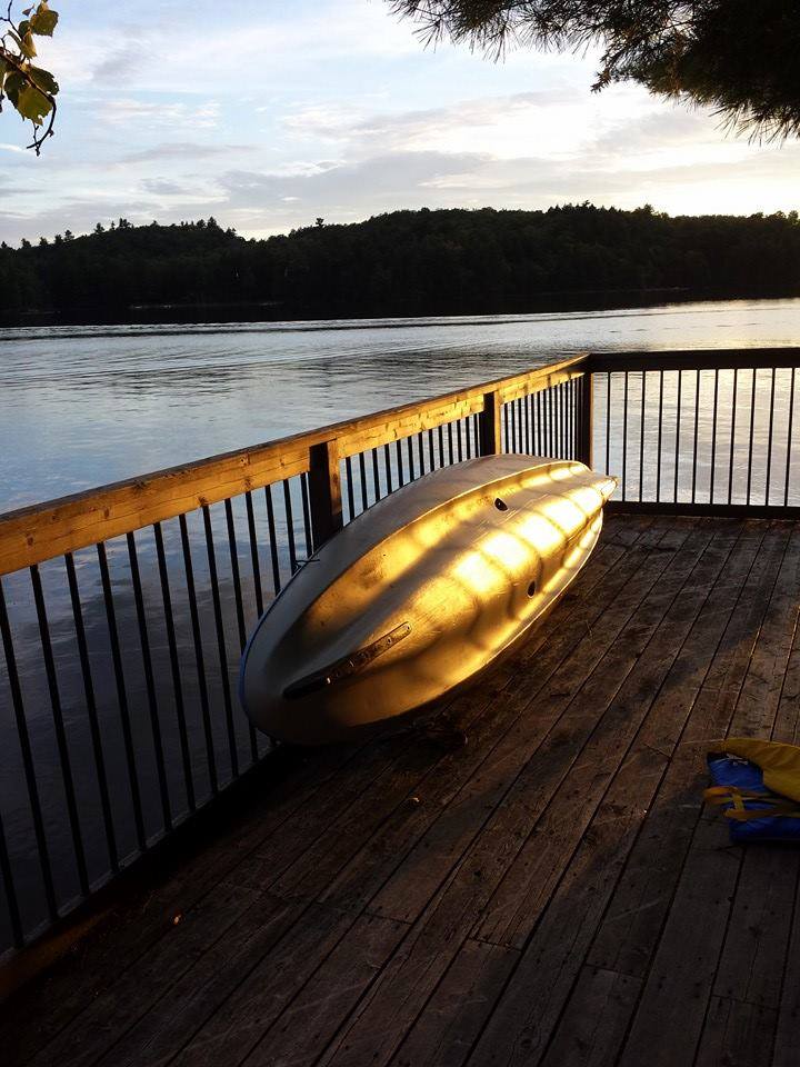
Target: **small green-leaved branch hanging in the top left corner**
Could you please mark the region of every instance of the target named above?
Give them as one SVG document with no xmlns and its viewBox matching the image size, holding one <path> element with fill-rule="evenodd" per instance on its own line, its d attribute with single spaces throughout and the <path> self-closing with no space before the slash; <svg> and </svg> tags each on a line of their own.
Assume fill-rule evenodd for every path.
<svg viewBox="0 0 800 1067">
<path fill-rule="evenodd" d="M 19 22 L 12 18 L 12 0 L 9 0 L 0 24 L 7 27 L 0 34 L 0 111 L 6 100 L 33 126 L 33 140 L 28 146 L 37 156 L 42 144 L 53 136 L 56 124 L 56 93 L 58 82 L 33 60 L 37 57 L 36 37 L 52 37 L 58 23 L 58 12 L 51 10 L 47 0 L 26 8 Z"/>
</svg>

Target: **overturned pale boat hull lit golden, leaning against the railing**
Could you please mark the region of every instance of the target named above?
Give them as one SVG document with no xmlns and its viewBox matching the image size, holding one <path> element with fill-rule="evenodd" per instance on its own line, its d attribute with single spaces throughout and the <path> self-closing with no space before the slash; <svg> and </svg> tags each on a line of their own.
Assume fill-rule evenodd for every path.
<svg viewBox="0 0 800 1067">
<path fill-rule="evenodd" d="M 380 500 L 260 619 L 242 657 L 246 712 L 274 738 L 319 745 L 469 682 L 569 587 L 616 485 L 576 461 L 487 456 Z"/>
</svg>

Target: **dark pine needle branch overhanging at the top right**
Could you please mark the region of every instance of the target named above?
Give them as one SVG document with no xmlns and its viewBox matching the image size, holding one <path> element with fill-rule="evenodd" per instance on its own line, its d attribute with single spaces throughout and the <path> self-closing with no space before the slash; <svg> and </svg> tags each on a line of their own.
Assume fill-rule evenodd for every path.
<svg viewBox="0 0 800 1067">
<path fill-rule="evenodd" d="M 800 136 L 798 0 L 389 0 L 426 41 L 601 50 L 594 90 L 637 81 L 754 137 Z"/>
</svg>

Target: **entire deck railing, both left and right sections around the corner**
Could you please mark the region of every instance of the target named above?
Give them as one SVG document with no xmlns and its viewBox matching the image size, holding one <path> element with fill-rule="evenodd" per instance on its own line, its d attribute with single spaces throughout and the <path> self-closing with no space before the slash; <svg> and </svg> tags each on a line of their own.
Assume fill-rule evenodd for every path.
<svg viewBox="0 0 800 1067">
<path fill-rule="evenodd" d="M 477 455 L 576 458 L 613 507 L 800 510 L 800 349 L 577 356 L 0 516 L 0 955 L 260 762 L 248 631 L 377 500 Z"/>
</svg>

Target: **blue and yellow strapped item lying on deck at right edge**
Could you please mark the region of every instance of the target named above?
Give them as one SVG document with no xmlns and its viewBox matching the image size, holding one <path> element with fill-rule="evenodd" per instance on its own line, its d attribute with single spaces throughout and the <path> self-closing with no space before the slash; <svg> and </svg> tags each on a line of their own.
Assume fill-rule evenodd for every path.
<svg viewBox="0 0 800 1067">
<path fill-rule="evenodd" d="M 731 737 L 709 752 L 708 804 L 724 807 L 731 841 L 800 841 L 800 748 Z"/>
</svg>

